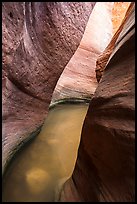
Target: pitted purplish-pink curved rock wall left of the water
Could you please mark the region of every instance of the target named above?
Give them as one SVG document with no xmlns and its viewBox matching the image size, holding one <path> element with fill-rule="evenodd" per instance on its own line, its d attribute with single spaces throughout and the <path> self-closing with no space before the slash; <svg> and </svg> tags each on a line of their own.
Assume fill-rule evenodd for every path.
<svg viewBox="0 0 137 204">
<path fill-rule="evenodd" d="M 15 146 L 46 117 L 54 87 L 80 43 L 94 5 L 3 3 L 3 168 Z"/>
</svg>

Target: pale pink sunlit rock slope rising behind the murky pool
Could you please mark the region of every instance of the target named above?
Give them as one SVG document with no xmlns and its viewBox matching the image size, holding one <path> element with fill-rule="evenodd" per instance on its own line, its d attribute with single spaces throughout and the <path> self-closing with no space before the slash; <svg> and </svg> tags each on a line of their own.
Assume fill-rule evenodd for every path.
<svg viewBox="0 0 137 204">
<path fill-rule="evenodd" d="M 114 2 L 97 2 L 78 49 L 65 67 L 52 101 L 62 98 L 91 98 L 97 87 L 96 60 L 113 35 Z"/>
</svg>

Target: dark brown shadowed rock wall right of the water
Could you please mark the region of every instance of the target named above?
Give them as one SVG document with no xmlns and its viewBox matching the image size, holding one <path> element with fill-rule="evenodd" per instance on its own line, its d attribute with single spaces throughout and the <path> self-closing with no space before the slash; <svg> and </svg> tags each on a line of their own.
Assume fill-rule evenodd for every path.
<svg viewBox="0 0 137 204">
<path fill-rule="evenodd" d="M 135 8 L 91 100 L 61 201 L 135 200 Z"/>
</svg>

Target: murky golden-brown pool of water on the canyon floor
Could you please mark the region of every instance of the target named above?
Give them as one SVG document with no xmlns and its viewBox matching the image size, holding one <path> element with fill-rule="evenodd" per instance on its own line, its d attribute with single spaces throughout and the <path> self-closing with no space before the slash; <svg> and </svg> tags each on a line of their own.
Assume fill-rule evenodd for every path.
<svg viewBox="0 0 137 204">
<path fill-rule="evenodd" d="M 3 181 L 4 202 L 55 201 L 72 175 L 88 104 L 58 104 L 38 136 L 17 153 Z"/>
</svg>

